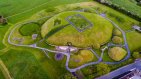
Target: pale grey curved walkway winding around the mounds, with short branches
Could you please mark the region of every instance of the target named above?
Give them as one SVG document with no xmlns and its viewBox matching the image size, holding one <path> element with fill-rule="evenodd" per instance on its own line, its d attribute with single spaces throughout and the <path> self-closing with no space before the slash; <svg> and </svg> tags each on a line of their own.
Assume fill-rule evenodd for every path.
<svg viewBox="0 0 141 79">
<path fill-rule="evenodd" d="M 48 16 L 47 16 L 47 17 L 48 17 Z M 47 17 L 44 17 L 44 18 L 47 18 Z M 125 48 L 126 48 L 126 50 L 127 50 L 127 52 L 128 52 L 128 55 L 127 55 L 123 60 L 121 60 L 121 61 L 119 61 L 119 62 L 104 62 L 104 63 L 106 63 L 106 64 L 119 64 L 119 63 L 121 63 L 121 62 L 127 60 L 127 59 L 130 57 L 130 50 L 129 50 L 129 47 L 128 47 L 128 44 L 127 44 L 127 41 L 126 41 L 126 35 L 125 35 L 125 32 L 124 32 L 121 28 L 119 28 L 119 26 L 118 26 L 117 24 L 115 24 L 113 21 L 111 21 L 111 20 L 110 20 L 109 18 L 107 18 L 107 17 L 104 17 L 104 18 L 107 19 L 108 21 L 110 21 L 116 28 L 118 28 L 118 29 L 122 32 L 123 38 L 124 38 L 124 41 L 125 41 L 125 42 L 124 42 L 124 45 L 125 45 Z M 40 19 L 43 19 L 43 18 L 40 18 Z M 40 19 L 38 19 L 38 20 L 40 20 Z M 33 21 L 37 21 L 37 20 L 33 20 Z M 29 22 L 33 22 L 33 21 L 29 21 Z M 84 67 L 86 67 L 86 66 L 94 65 L 94 64 L 98 64 L 98 63 L 100 63 L 100 62 L 103 62 L 103 61 L 102 61 L 103 54 L 104 54 L 104 51 L 105 51 L 106 49 L 108 49 L 108 46 L 106 46 L 105 48 L 102 49 L 102 53 L 101 53 L 101 56 L 100 56 L 100 57 L 96 54 L 95 51 L 92 51 L 92 49 L 91 49 L 91 51 L 92 51 L 92 52 L 96 55 L 96 57 L 98 58 L 98 61 L 96 61 L 96 62 L 91 62 L 91 63 L 87 63 L 87 64 L 84 64 L 84 65 L 79 66 L 79 67 L 77 67 L 77 68 L 71 69 L 71 68 L 69 68 L 69 66 L 68 66 L 68 65 L 69 65 L 69 60 L 70 60 L 70 48 L 68 49 L 67 52 L 60 52 L 60 51 L 50 50 L 50 49 L 47 49 L 47 48 L 38 47 L 36 44 L 32 44 L 32 45 L 21 45 L 21 44 L 15 44 L 15 43 L 11 42 L 10 38 L 11 38 L 11 35 L 14 33 L 15 29 L 16 29 L 17 27 L 19 27 L 20 25 L 25 24 L 25 23 L 29 23 L 29 22 L 24 22 L 24 23 L 21 23 L 21 24 L 15 26 L 15 27 L 13 28 L 13 30 L 10 32 L 9 36 L 8 36 L 8 43 L 10 43 L 10 44 L 12 44 L 12 45 L 15 45 L 15 46 L 31 47 L 31 48 L 37 48 L 37 49 L 49 51 L 49 52 L 52 52 L 52 53 L 58 53 L 58 52 L 59 52 L 59 53 L 61 53 L 61 54 L 64 54 L 64 55 L 67 56 L 65 66 L 66 66 L 66 69 L 67 69 L 68 71 L 70 71 L 70 72 L 75 72 L 75 71 L 77 71 L 77 70 L 79 70 L 79 69 L 81 69 L 81 68 L 84 68 Z"/>
</svg>

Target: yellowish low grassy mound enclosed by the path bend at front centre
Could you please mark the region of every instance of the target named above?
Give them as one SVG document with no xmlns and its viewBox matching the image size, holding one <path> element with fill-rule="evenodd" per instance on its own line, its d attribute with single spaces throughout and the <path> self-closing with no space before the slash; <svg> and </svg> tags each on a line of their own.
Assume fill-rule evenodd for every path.
<svg viewBox="0 0 141 79">
<path fill-rule="evenodd" d="M 96 57 L 94 57 L 94 54 L 90 50 L 80 50 L 78 53 L 78 55 L 72 55 L 70 58 L 69 66 L 72 68 L 96 60 Z"/>
</svg>

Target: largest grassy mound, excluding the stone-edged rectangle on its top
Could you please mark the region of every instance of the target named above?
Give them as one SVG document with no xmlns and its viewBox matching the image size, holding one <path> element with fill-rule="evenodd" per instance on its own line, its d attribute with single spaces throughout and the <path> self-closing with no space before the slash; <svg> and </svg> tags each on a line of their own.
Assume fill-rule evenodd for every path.
<svg viewBox="0 0 141 79">
<path fill-rule="evenodd" d="M 66 17 L 81 14 L 93 23 L 93 27 L 86 29 L 84 32 L 78 32 L 73 26 L 68 24 Z M 61 20 L 59 25 L 54 26 L 56 19 Z M 63 12 L 49 19 L 41 28 L 43 37 L 47 37 L 47 42 L 55 45 L 64 45 L 72 42 L 73 45 L 79 47 L 87 47 L 90 45 L 101 45 L 110 40 L 112 36 L 113 26 L 106 19 L 97 14 L 84 12 Z"/>
</svg>

